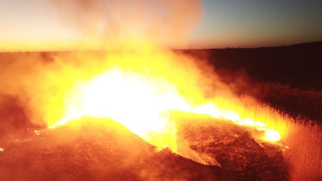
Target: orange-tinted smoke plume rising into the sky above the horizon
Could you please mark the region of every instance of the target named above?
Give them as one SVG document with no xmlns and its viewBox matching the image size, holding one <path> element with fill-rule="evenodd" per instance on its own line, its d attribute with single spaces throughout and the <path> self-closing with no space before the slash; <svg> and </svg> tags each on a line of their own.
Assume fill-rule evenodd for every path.
<svg viewBox="0 0 322 181">
<path fill-rule="evenodd" d="M 51 2 L 67 27 L 88 43 L 99 41 L 104 49 L 134 49 L 147 41 L 184 48 L 202 14 L 199 0 Z"/>
</svg>

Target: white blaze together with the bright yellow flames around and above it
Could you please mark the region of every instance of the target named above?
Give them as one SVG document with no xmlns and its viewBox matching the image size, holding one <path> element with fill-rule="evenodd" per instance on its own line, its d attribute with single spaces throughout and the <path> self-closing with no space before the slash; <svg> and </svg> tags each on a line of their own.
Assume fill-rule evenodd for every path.
<svg viewBox="0 0 322 181">
<path fill-rule="evenodd" d="M 265 111 L 249 111 L 232 95 L 206 98 L 200 85 L 203 75 L 184 55 L 160 50 L 117 52 L 110 53 L 102 66 L 105 71 L 66 91 L 61 118 L 47 117 L 49 128 L 84 116 L 110 118 L 150 144 L 176 152 L 176 120 L 171 112 L 179 111 L 251 126 L 266 131 L 266 140 L 280 140 L 279 131 L 263 122 L 271 119 Z"/>
</svg>

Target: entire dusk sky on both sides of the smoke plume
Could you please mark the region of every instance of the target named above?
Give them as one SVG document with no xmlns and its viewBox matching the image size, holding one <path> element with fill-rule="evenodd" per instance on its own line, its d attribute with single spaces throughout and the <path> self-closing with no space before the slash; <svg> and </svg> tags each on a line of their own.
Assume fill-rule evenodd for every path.
<svg viewBox="0 0 322 181">
<path fill-rule="evenodd" d="M 322 41 L 321 0 L 202 0 L 185 48 L 265 47 Z M 92 41 L 47 0 L 0 0 L 0 51 L 61 51 Z M 180 48 L 180 47 L 179 47 Z"/>
</svg>

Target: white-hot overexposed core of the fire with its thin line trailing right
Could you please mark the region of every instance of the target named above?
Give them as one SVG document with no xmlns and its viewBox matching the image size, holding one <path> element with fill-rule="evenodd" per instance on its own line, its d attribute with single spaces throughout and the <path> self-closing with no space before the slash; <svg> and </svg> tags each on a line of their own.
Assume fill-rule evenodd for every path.
<svg viewBox="0 0 322 181">
<path fill-rule="evenodd" d="M 267 129 L 263 122 L 242 119 L 233 110 L 223 111 L 211 101 L 194 105 L 181 96 L 171 83 L 163 79 L 151 80 L 137 73 L 124 73 L 120 68 L 109 69 L 76 86 L 65 104 L 65 116 L 49 128 L 83 116 L 111 118 L 147 142 L 158 147 L 168 145 L 175 150 L 176 144 L 169 144 L 175 142 L 176 134 L 169 112 L 182 111 L 253 126 L 266 131 L 266 140 L 280 140 L 279 132 Z"/>
</svg>

